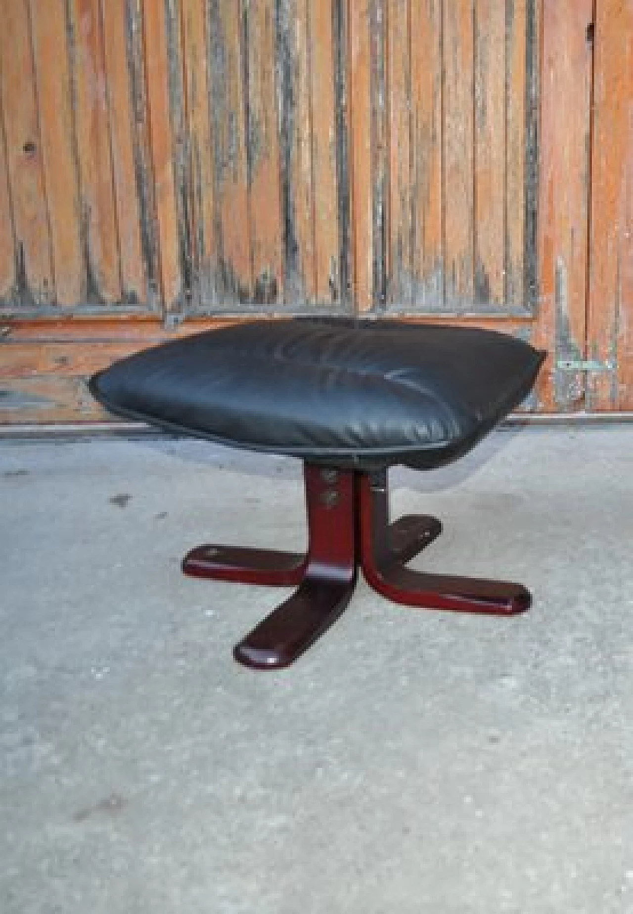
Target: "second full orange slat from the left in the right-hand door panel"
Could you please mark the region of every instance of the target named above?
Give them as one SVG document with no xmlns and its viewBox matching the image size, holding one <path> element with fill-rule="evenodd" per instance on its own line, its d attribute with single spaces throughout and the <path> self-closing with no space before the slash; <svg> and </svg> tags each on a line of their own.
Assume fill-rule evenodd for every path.
<svg viewBox="0 0 633 914">
<path fill-rule="evenodd" d="M 411 2 L 412 303 L 444 302 L 442 2 Z"/>
</svg>

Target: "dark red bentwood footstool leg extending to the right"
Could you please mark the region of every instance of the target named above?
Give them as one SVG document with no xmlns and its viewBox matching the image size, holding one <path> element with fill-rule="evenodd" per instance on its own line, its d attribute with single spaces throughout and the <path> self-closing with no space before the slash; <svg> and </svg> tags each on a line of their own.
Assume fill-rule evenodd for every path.
<svg viewBox="0 0 633 914">
<path fill-rule="evenodd" d="M 512 615 L 529 609 L 530 593 L 521 584 L 426 574 L 406 568 L 405 562 L 412 558 L 411 549 L 398 550 L 397 537 L 390 537 L 390 531 L 398 526 L 397 522 L 396 526 L 388 526 L 386 471 L 358 473 L 356 485 L 360 564 L 374 590 L 396 603 L 425 609 L 490 615 Z M 440 532 L 440 527 L 432 525 L 433 520 L 420 518 L 419 522 L 419 536 L 424 538 L 425 529 L 430 531 L 428 542 Z M 396 540 L 393 546 L 390 540 Z"/>
</svg>

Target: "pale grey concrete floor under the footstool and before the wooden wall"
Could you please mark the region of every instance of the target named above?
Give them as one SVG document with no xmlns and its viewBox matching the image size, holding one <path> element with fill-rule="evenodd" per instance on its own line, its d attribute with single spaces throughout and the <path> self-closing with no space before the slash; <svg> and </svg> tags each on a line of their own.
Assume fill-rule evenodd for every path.
<svg viewBox="0 0 633 914">
<path fill-rule="evenodd" d="M 533 610 L 361 584 L 254 674 L 231 646 L 283 591 L 179 559 L 298 547 L 299 463 L 0 445 L 2 914 L 633 911 L 633 426 L 498 432 L 393 488 L 445 522 L 426 567 Z"/>
</svg>

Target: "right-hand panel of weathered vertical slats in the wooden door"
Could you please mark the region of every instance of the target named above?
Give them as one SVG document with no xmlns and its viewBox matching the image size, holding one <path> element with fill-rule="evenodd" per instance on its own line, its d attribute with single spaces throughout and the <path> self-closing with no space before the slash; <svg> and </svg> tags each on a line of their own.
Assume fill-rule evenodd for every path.
<svg viewBox="0 0 633 914">
<path fill-rule="evenodd" d="M 539 9 L 351 4 L 361 310 L 532 314 Z"/>
</svg>

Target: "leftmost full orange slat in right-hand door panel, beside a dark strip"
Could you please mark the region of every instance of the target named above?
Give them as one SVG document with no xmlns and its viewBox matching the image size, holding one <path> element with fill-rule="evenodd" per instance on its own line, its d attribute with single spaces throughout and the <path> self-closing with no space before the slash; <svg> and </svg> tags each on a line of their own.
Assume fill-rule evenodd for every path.
<svg viewBox="0 0 633 914">
<path fill-rule="evenodd" d="M 389 251 L 390 303 L 413 301 L 413 187 L 411 148 L 411 5 L 396 0 L 389 5 Z"/>
</svg>

